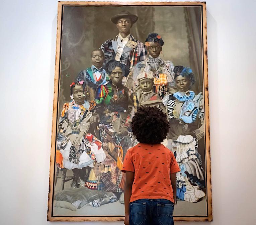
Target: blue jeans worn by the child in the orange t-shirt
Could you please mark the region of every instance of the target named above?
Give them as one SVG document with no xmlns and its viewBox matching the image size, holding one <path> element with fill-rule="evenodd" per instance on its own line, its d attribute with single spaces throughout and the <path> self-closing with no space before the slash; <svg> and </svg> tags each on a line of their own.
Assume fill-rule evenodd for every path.
<svg viewBox="0 0 256 225">
<path fill-rule="evenodd" d="M 139 199 L 130 203 L 130 225 L 173 225 L 173 202 Z"/>
</svg>

